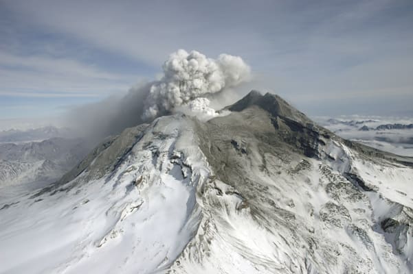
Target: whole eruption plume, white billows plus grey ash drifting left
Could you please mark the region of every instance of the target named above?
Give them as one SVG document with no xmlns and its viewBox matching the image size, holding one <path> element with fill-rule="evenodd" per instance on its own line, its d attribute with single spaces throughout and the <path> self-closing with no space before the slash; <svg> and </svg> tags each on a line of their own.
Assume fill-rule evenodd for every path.
<svg viewBox="0 0 413 274">
<path fill-rule="evenodd" d="M 221 95 L 251 78 L 251 69 L 241 57 L 221 54 L 212 59 L 182 49 L 170 54 L 162 69 L 160 80 L 137 85 L 124 97 L 110 97 L 71 110 L 65 124 L 96 145 L 126 127 L 174 112 L 212 118 L 216 114 L 208 97 Z"/>
</svg>

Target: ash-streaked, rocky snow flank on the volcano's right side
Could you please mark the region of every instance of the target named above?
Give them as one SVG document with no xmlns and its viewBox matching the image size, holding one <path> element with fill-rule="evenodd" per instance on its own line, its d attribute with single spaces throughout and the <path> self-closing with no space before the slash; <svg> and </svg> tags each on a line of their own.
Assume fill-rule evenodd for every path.
<svg viewBox="0 0 413 274">
<path fill-rule="evenodd" d="M 247 108 L 214 119 L 204 128 L 201 147 L 216 176 L 202 196 L 208 205 L 205 211 L 210 212 L 204 216 L 209 219 L 203 219 L 199 238 L 172 269 L 176 273 L 410 273 L 412 215 L 405 212 L 413 206 L 412 193 L 407 192 L 413 170 L 353 151 L 335 136 L 322 136 L 325 145 L 316 146 L 318 160 L 303 157 L 295 152 L 301 145 L 277 142 L 277 135 L 269 138 L 271 125 L 274 120 L 267 114 Z M 295 132 L 300 130 L 293 128 L 282 138 L 289 140 Z M 356 165 L 357 161 L 362 164 Z M 377 173 L 368 164 L 388 166 L 390 174 Z M 383 186 L 392 188 L 391 193 L 376 192 L 364 179 L 373 172 L 381 176 Z M 394 174 L 403 174 L 397 177 L 397 186 L 392 184 Z M 364 190 L 350 175 L 372 189 Z M 403 210 L 381 212 L 383 204 Z"/>
</svg>

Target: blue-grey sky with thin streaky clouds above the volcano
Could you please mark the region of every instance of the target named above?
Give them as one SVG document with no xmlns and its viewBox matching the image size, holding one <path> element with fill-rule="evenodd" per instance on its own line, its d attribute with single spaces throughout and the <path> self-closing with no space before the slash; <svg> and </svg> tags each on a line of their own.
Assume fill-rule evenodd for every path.
<svg viewBox="0 0 413 274">
<path fill-rule="evenodd" d="M 177 49 L 240 55 L 309 114 L 413 114 L 413 1 L 0 1 L 0 119 L 153 79 Z"/>
</svg>

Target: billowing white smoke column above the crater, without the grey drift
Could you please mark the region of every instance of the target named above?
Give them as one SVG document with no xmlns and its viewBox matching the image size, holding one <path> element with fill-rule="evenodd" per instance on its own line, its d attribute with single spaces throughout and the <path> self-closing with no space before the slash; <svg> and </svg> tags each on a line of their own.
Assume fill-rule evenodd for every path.
<svg viewBox="0 0 413 274">
<path fill-rule="evenodd" d="M 150 86 L 145 99 L 144 120 L 172 112 L 199 97 L 237 86 L 251 77 L 251 69 L 241 57 L 221 54 L 214 60 L 198 51 L 188 53 L 183 49 L 169 56 L 163 70 L 164 76 Z M 194 102 L 192 106 L 199 108 L 202 105 L 204 110 L 214 111 L 207 109 L 209 100 L 204 99 Z"/>
</svg>

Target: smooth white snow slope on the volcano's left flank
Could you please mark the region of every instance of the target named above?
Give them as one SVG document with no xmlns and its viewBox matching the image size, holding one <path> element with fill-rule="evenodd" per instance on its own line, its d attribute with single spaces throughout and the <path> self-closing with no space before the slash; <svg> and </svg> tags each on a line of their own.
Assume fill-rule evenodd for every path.
<svg viewBox="0 0 413 274">
<path fill-rule="evenodd" d="M 62 190 L 2 201 L 0 239 L 7 251 L 0 252 L 0 272 L 166 269 L 201 216 L 195 189 L 209 170 L 193 139 L 182 118 L 165 117 L 146 129 L 111 173 L 92 179 L 92 164 Z M 27 222 L 14 223 L 16 216 Z"/>
</svg>

